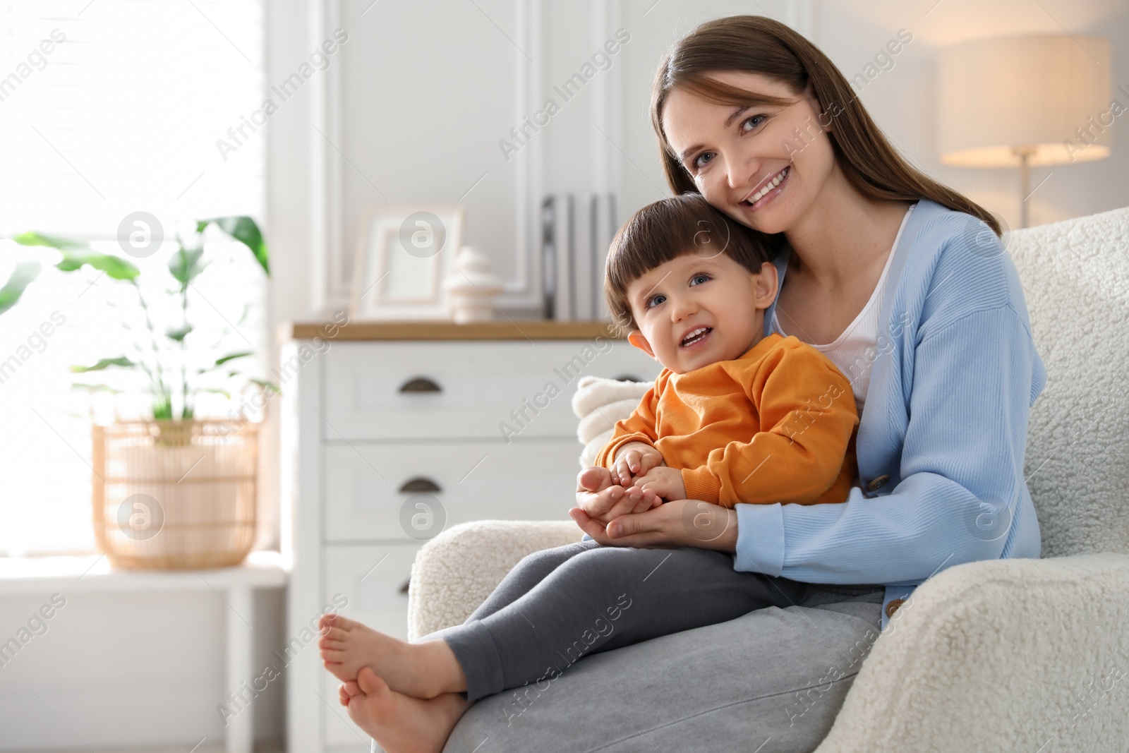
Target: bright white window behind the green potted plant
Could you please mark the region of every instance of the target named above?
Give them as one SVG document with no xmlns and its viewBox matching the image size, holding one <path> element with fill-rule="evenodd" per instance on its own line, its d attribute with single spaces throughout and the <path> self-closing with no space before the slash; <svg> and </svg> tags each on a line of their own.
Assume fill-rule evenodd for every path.
<svg viewBox="0 0 1129 753">
<path fill-rule="evenodd" d="M 264 98 L 263 55 L 262 0 L 0 6 L 0 238 L 34 229 L 124 255 L 119 226 L 138 211 L 158 219 L 167 242 L 195 219 L 250 214 L 262 225 L 265 134 L 245 120 Z M 240 126 L 234 141 L 229 129 Z M 221 152 L 221 139 L 236 148 Z M 130 260 L 158 329 L 178 317 L 161 269 L 174 248 Z M 204 259 L 210 268 L 190 291 L 200 341 L 262 354 L 262 271 L 220 239 Z M 89 268 L 62 273 L 51 265 L 58 254 L 7 239 L 0 284 L 27 260 L 43 271 L 0 314 L 0 554 L 91 551 L 90 410 L 106 420 L 137 406 L 91 402 L 71 387 L 69 366 L 123 354 L 138 335 L 123 326 L 139 324 L 137 296 Z M 246 368 L 263 376 L 262 366 Z"/>
</svg>

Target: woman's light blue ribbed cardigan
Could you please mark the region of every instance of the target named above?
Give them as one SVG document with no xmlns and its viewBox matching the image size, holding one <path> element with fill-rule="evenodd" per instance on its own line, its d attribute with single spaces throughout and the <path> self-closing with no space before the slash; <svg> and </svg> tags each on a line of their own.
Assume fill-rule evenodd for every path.
<svg viewBox="0 0 1129 753">
<path fill-rule="evenodd" d="M 1047 380 L 1015 264 L 988 226 L 922 200 L 893 253 L 858 428 L 863 488 L 832 505 L 737 505 L 734 558 L 805 583 L 883 584 L 883 628 L 892 599 L 944 568 L 1039 557 L 1023 453 Z M 781 281 L 789 255 L 776 260 Z"/>
</svg>

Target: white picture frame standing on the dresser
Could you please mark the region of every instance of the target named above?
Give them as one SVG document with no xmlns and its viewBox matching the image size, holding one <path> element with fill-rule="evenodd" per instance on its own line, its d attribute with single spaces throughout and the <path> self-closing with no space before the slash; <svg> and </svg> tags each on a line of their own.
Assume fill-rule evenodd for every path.
<svg viewBox="0 0 1129 753">
<path fill-rule="evenodd" d="M 461 204 L 361 209 L 353 259 L 355 319 L 447 319 L 443 280 L 463 244 Z"/>
</svg>

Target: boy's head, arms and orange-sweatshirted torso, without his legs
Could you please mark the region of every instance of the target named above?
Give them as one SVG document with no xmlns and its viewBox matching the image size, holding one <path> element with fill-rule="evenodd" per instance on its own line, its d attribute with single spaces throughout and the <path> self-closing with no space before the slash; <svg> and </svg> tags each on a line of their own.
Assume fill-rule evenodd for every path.
<svg viewBox="0 0 1129 753">
<path fill-rule="evenodd" d="M 607 307 L 665 368 L 596 456 L 603 481 L 639 489 L 642 507 L 847 499 L 850 383 L 796 338 L 763 336 L 776 290 L 767 245 L 698 194 L 624 226 L 609 254 Z"/>
</svg>

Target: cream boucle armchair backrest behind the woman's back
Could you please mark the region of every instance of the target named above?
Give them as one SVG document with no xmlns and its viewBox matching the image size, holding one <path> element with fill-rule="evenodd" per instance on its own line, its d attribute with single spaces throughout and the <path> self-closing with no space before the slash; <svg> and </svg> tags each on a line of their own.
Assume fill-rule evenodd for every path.
<svg viewBox="0 0 1129 753">
<path fill-rule="evenodd" d="M 1129 208 L 1006 239 L 1047 366 L 1024 463 L 1042 554 L 1129 553 Z"/>
</svg>

